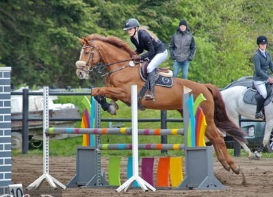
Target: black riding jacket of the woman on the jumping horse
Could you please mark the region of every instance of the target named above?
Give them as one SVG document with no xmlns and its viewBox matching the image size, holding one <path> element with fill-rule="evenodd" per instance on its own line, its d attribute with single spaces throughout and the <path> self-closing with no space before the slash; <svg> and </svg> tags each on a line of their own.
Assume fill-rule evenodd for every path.
<svg viewBox="0 0 273 197">
<path fill-rule="evenodd" d="M 145 59 L 148 57 L 150 60 L 157 55 L 157 53 L 162 53 L 167 49 L 167 44 L 164 42 L 161 42 L 160 40 L 156 41 L 154 40 L 150 34 L 148 34 L 145 30 L 138 30 L 138 41 L 131 36 L 131 42 L 135 44 L 136 47 L 136 53 L 140 54 L 144 50 L 147 51 L 147 53 L 144 53 L 141 56 L 141 59 Z"/>
</svg>

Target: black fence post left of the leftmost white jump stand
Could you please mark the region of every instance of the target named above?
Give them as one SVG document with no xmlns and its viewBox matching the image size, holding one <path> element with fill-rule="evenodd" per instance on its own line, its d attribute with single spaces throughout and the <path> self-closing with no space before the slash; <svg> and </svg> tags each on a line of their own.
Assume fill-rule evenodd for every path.
<svg viewBox="0 0 273 197">
<path fill-rule="evenodd" d="M 29 150 L 29 90 L 23 89 L 22 154 Z"/>
</svg>

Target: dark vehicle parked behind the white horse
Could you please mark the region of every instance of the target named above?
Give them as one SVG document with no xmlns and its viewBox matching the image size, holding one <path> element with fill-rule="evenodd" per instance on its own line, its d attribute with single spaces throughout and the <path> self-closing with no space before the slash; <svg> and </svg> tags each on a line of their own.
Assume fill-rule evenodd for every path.
<svg viewBox="0 0 273 197">
<path fill-rule="evenodd" d="M 246 76 L 238 79 L 237 81 L 233 81 L 229 83 L 228 86 L 222 88 L 222 90 L 226 90 L 227 88 L 231 88 L 233 86 L 245 86 L 251 87 L 252 86 L 252 76 Z M 241 116 L 239 118 L 241 128 L 243 131 L 247 133 L 246 140 L 248 140 L 248 147 L 251 150 L 257 150 L 261 144 L 263 144 L 263 135 L 265 131 L 265 122 L 264 121 L 257 121 L 257 120 L 249 120 Z M 228 148 L 233 148 L 234 140 L 233 137 L 225 136 L 224 140 L 226 142 L 226 146 Z M 273 130 L 270 135 L 270 142 L 267 144 L 265 148 L 265 152 L 272 153 L 273 152 Z"/>
</svg>

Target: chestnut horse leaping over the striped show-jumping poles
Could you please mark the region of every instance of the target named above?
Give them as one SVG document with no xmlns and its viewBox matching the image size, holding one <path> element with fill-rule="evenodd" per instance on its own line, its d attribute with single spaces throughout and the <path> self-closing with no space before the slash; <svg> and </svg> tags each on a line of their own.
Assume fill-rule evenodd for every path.
<svg viewBox="0 0 273 197">
<path fill-rule="evenodd" d="M 138 92 L 144 81 L 139 74 L 138 62 L 131 64 L 131 55 L 135 54 L 127 44 L 114 36 L 104 37 L 96 34 L 80 39 L 83 44 L 81 56 L 77 65 L 77 76 L 80 79 L 88 79 L 92 70 L 98 69 L 100 73 L 105 70 L 106 87 L 93 88 L 92 96 L 106 96 L 111 101 L 111 107 L 118 109 L 115 101 L 122 101 L 131 104 L 131 85 L 138 86 Z M 142 99 L 140 103 L 148 109 L 177 110 L 183 116 L 182 94 L 183 86 L 190 88 L 194 99 L 199 94 L 205 96 L 206 101 L 200 104 L 207 120 L 207 130 L 205 136 L 211 142 L 216 151 L 216 155 L 222 166 L 226 170 L 233 170 L 239 174 L 240 169 L 229 155 L 224 138 L 218 131 L 233 136 L 239 142 L 246 142 L 244 132 L 233 124 L 228 116 L 220 91 L 212 84 L 201 84 L 186 79 L 172 78 L 171 88 L 155 86 L 155 101 Z M 98 98 L 98 97 L 97 97 Z M 114 112 L 112 111 L 112 114 Z M 198 162 L 198 161 L 197 161 Z"/>
</svg>

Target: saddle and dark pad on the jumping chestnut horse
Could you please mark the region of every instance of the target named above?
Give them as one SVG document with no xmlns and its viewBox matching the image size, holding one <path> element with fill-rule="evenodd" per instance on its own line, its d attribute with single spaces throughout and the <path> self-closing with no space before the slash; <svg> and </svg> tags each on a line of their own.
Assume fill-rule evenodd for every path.
<svg viewBox="0 0 273 197">
<path fill-rule="evenodd" d="M 147 61 L 140 65 L 140 77 L 143 81 L 147 81 L 147 66 L 150 62 Z M 155 86 L 172 87 L 172 70 L 169 70 L 169 68 L 155 68 Z"/>
</svg>

